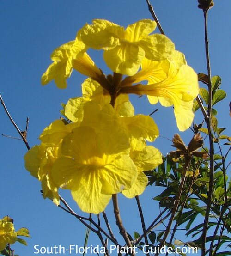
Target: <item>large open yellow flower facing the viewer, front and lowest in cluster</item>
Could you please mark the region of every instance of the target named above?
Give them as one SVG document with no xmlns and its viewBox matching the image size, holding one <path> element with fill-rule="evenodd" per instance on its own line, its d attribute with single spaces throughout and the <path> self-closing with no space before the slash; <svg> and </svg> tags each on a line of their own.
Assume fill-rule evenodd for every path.
<svg viewBox="0 0 231 256">
<path fill-rule="evenodd" d="M 62 142 L 52 168 L 59 186 L 71 189 L 73 199 L 87 213 L 102 212 L 112 194 L 129 189 L 137 169 L 129 157 L 128 139 L 114 127 L 107 131 L 88 126 L 73 129 Z"/>
</svg>

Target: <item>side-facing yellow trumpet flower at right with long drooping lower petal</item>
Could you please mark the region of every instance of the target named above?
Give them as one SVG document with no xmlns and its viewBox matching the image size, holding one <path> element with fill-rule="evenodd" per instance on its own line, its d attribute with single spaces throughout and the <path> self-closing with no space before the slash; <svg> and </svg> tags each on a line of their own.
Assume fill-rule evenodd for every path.
<svg viewBox="0 0 231 256">
<path fill-rule="evenodd" d="M 139 79 L 141 80 L 142 77 Z M 182 65 L 177 70 L 174 63 L 169 62 L 167 77 L 164 80 L 148 85 L 123 87 L 122 92 L 152 96 L 149 98 L 152 104 L 157 103 L 158 100 L 164 106 L 173 104 L 177 126 L 180 131 L 184 131 L 193 121 L 192 104 L 199 93 L 199 84 L 197 74 L 191 67 Z M 187 118 L 182 119 L 182 117 Z"/>
</svg>

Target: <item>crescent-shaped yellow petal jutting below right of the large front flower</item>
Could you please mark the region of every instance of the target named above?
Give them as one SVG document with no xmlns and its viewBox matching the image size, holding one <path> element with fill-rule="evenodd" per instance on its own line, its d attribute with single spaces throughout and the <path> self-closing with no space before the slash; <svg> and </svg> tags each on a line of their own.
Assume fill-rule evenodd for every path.
<svg viewBox="0 0 231 256">
<path fill-rule="evenodd" d="M 128 190 L 123 190 L 122 194 L 125 195 L 127 198 L 133 198 L 136 195 L 141 195 L 148 183 L 148 179 L 146 175 L 142 172 L 138 172 L 138 176 L 132 187 Z"/>
</svg>

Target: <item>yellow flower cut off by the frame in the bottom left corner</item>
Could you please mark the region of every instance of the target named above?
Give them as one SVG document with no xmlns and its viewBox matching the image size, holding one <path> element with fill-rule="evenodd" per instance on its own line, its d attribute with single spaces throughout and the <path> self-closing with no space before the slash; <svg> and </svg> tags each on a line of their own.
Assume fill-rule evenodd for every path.
<svg viewBox="0 0 231 256">
<path fill-rule="evenodd" d="M 6 244 L 14 244 L 16 241 L 13 223 L 0 219 L 0 251 L 6 248 Z"/>
</svg>

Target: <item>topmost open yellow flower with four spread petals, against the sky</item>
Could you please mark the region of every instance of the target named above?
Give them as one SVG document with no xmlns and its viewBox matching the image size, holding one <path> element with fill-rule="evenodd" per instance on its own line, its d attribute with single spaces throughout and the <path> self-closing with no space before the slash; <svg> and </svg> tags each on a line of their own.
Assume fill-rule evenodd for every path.
<svg viewBox="0 0 231 256">
<path fill-rule="evenodd" d="M 143 19 L 126 29 L 103 19 L 86 24 L 79 33 L 83 42 L 93 49 L 104 49 L 104 60 L 115 73 L 134 75 L 146 57 L 153 61 L 167 59 L 174 44 L 164 35 L 154 34 L 156 22 Z"/>
</svg>

